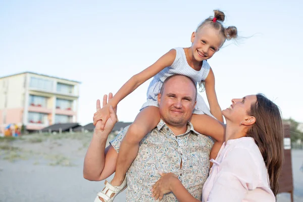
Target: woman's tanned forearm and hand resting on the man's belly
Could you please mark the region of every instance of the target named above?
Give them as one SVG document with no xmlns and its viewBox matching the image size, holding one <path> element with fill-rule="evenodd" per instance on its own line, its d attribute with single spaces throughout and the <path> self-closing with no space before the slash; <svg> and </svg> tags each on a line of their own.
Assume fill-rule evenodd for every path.
<svg viewBox="0 0 303 202">
<path fill-rule="evenodd" d="M 155 197 L 157 200 L 161 200 L 164 194 L 173 192 L 176 198 L 182 201 L 192 201 L 192 202 L 201 202 L 200 200 L 193 197 L 187 189 L 182 185 L 178 177 L 173 173 L 160 173 L 162 176 L 153 186 L 151 192 L 152 197 Z"/>
</svg>

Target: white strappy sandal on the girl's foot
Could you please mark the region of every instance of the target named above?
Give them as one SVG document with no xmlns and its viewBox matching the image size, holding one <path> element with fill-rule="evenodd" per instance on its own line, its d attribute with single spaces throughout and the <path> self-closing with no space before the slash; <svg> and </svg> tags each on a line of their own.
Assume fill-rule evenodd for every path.
<svg viewBox="0 0 303 202">
<path fill-rule="evenodd" d="M 99 199 L 99 197 L 102 197 L 104 202 L 113 202 L 114 198 L 122 192 L 127 187 L 127 180 L 126 176 L 124 178 L 124 181 L 120 186 L 113 186 L 111 183 L 109 183 L 107 180 L 105 180 L 105 188 L 97 193 L 97 196 L 94 200 L 94 202 L 102 202 L 102 200 Z M 113 197 L 111 195 L 114 193 Z"/>
</svg>

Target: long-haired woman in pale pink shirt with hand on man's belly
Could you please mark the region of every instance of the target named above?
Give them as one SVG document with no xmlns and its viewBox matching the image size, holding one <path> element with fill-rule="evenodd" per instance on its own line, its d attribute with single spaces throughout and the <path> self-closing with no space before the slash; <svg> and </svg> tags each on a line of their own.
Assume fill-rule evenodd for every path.
<svg viewBox="0 0 303 202">
<path fill-rule="evenodd" d="M 232 99 L 222 111 L 223 143 L 203 187 L 202 201 L 276 201 L 283 161 L 283 129 L 279 108 L 262 94 Z M 162 174 L 153 197 L 173 192 L 179 201 L 194 198 L 172 173 Z"/>
</svg>

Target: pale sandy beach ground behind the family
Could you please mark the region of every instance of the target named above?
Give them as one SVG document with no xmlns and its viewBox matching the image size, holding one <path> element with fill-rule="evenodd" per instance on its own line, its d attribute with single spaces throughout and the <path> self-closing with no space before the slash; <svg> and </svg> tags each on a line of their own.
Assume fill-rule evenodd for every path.
<svg viewBox="0 0 303 202">
<path fill-rule="evenodd" d="M 83 178 L 91 133 L 0 138 L 0 201 L 93 201 L 102 182 Z M 110 135 L 112 139 L 114 135 Z M 294 201 L 303 201 L 303 150 L 292 150 Z M 125 191 L 115 201 L 125 201 Z M 290 201 L 281 193 L 279 202 Z"/>
</svg>

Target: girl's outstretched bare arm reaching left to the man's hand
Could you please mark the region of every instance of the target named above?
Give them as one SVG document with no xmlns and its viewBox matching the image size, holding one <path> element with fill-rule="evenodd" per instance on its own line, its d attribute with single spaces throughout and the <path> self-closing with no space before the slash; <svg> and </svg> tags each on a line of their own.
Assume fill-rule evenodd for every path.
<svg viewBox="0 0 303 202">
<path fill-rule="evenodd" d="M 173 64 L 176 58 L 176 50 L 171 49 L 168 53 L 163 55 L 158 61 L 156 61 L 153 65 L 147 67 L 142 72 L 132 76 L 115 94 L 115 96 L 110 100 L 110 102 L 104 106 L 102 109 L 98 110 L 93 117 L 93 124 L 95 125 L 97 121 L 102 120 L 102 130 L 108 120 L 109 106 L 117 107 L 118 103 L 127 95 L 129 95 L 132 91 L 134 91 L 137 87 L 139 87 L 146 80 L 155 76 L 159 72 L 161 72 L 164 68 L 169 67 Z"/>
</svg>

